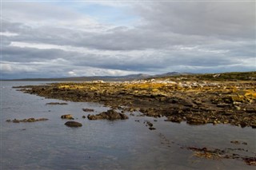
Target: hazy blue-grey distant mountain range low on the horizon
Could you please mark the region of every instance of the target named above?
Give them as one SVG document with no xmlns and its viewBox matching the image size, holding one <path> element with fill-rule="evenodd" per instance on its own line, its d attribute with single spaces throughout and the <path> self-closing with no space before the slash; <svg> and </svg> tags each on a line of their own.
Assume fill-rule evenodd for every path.
<svg viewBox="0 0 256 170">
<path fill-rule="evenodd" d="M 170 77 L 170 76 L 178 76 L 178 75 L 188 75 L 192 73 L 178 73 L 178 72 L 170 72 L 156 75 L 149 74 L 130 74 L 126 76 L 94 76 L 94 77 L 60 77 L 60 78 L 25 78 L 25 79 L 12 79 L 12 80 L 3 80 L 3 81 L 131 81 L 131 80 L 139 80 L 146 78 L 154 78 L 154 77 Z"/>
</svg>

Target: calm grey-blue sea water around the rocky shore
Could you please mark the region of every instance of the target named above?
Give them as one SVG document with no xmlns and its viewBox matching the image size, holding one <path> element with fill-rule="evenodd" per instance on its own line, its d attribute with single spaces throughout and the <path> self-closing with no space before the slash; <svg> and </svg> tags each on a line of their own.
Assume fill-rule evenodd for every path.
<svg viewBox="0 0 256 170">
<path fill-rule="evenodd" d="M 230 125 L 190 126 L 165 118 L 132 117 L 126 121 L 89 121 L 82 108 L 94 114 L 109 108 L 95 103 L 45 99 L 12 89 L 15 85 L 46 82 L 1 82 L 1 170 L 6 169 L 255 169 L 239 160 L 206 160 L 186 147 L 244 148 L 241 155 L 255 156 L 256 131 Z M 58 101 L 63 102 L 63 101 Z M 81 128 L 69 128 L 60 117 L 72 114 Z M 127 113 L 129 115 L 129 113 Z M 7 119 L 48 118 L 33 123 Z M 138 122 L 138 121 L 139 122 Z M 156 120 L 156 121 L 154 121 Z M 151 121 L 150 131 L 144 121 Z M 230 140 L 247 145 L 230 144 Z M 181 148 L 182 147 L 182 148 Z"/>
</svg>

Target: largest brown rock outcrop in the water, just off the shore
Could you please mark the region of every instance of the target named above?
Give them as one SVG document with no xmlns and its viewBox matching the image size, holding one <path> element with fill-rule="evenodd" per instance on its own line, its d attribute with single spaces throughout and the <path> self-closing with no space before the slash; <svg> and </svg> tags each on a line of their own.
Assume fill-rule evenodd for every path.
<svg viewBox="0 0 256 170">
<path fill-rule="evenodd" d="M 89 120 L 100 120 L 100 119 L 106 119 L 109 121 L 114 120 L 125 120 L 128 119 L 128 117 L 123 113 L 118 113 L 114 109 L 110 109 L 106 112 L 99 113 L 97 115 L 88 115 L 87 116 Z"/>
</svg>

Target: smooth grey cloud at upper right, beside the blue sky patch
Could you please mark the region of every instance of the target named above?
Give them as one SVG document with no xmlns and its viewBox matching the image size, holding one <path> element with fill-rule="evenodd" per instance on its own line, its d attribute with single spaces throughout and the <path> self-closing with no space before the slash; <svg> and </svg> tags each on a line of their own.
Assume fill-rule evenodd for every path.
<svg viewBox="0 0 256 170">
<path fill-rule="evenodd" d="M 145 29 L 215 38 L 255 38 L 255 2 L 152 2 L 138 6 Z"/>
</svg>

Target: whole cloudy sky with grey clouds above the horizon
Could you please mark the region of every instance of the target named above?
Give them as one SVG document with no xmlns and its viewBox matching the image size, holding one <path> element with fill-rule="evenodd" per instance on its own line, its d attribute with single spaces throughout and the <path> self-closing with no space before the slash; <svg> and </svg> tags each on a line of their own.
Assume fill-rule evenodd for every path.
<svg viewBox="0 0 256 170">
<path fill-rule="evenodd" d="M 255 1 L 1 1 L 1 78 L 256 70 Z"/>
</svg>

